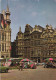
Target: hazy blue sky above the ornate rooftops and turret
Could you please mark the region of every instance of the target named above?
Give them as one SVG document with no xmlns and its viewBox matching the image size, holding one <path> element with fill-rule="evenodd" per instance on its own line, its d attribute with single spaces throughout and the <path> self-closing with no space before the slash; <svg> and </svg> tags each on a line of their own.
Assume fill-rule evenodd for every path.
<svg viewBox="0 0 56 80">
<path fill-rule="evenodd" d="M 51 24 L 56 27 L 56 0 L 8 0 L 8 5 L 11 12 L 11 41 L 16 39 L 20 26 L 24 32 L 26 24 L 44 28 L 46 24 Z M 6 7 L 7 0 L 0 0 L 0 12 Z"/>
</svg>

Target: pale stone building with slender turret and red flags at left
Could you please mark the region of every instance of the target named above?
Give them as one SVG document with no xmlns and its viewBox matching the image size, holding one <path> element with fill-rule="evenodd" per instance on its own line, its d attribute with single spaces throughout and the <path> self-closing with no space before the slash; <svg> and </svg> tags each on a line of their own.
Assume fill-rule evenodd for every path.
<svg viewBox="0 0 56 80">
<path fill-rule="evenodd" d="M 0 58 L 10 57 L 11 28 L 10 11 L 0 13 Z"/>
</svg>

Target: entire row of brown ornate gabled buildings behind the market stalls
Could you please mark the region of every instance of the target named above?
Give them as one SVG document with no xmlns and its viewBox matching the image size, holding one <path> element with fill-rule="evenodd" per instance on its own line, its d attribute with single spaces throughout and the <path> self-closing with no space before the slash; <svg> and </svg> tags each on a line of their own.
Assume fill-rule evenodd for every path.
<svg viewBox="0 0 56 80">
<path fill-rule="evenodd" d="M 56 57 L 56 30 L 50 25 L 46 28 L 35 25 L 25 26 L 25 32 L 21 28 L 16 36 L 16 55 L 30 58 L 40 62 L 48 57 Z"/>
</svg>

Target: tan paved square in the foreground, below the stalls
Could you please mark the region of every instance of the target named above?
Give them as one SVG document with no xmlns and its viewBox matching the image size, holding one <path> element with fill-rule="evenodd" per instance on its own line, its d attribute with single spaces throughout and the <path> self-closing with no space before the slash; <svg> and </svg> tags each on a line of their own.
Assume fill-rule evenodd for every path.
<svg viewBox="0 0 56 80">
<path fill-rule="evenodd" d="M 43 68 L 37 66 L 37 69 L 18 69 L 9 70 L 8 73 L 0 73 L 1 80 L 56 80 L 56 69 Z"/>
</svg>

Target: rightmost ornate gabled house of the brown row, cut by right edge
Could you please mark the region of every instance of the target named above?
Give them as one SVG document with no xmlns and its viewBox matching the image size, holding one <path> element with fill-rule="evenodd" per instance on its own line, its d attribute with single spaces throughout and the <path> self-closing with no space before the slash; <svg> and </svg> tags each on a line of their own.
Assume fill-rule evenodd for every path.
<svg viewBox="0 0 56 80">
<path fill-rule="evenodd" d="M 46 57 L 55 57 L 56 58 L 56 30 L 50 25 L 46 25 L 45 30 L 41 35 L 43 45 L 42 47 L 42 56 Z"/>
</svg>

